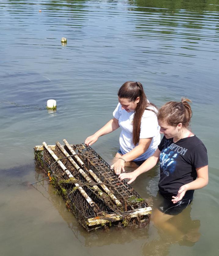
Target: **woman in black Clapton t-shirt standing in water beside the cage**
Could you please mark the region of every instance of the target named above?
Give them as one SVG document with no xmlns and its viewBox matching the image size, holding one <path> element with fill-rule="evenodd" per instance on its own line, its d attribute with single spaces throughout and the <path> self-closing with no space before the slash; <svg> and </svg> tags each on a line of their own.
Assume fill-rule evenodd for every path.
<svg viewBox="0 0 219 256">
<path fill-rule="evenodd" d="M 194 189 L 203 188 L 208 183 L 206 147 L 188 129 L 192 117 L 189 102 L 182 98 L 180 102 L 167 102 L 159 109 L 158 123 L 164 136 L 157 150 L 135 171 L 119 175 L 121 180 L 130 179 L 130 184 L 160 162 L 158 187 L 163 197 L 158 208 L 160 221 L 180 213 L 191 203 Z"/>
</svg>

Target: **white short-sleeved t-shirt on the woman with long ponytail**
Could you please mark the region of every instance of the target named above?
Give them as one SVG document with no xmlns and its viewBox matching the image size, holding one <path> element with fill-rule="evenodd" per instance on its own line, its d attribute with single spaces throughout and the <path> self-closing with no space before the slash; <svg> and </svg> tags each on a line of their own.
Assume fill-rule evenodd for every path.
<svg viewBox="0 0 219 256">
<path fill-rule="evenodd" d="M 154 109 L 155 111 L 157 111 L 153 106 L 149 106 L 148 109 Z M 122 129 L 119 136 L 119 143 L 122 155 L 124 155 L 130 152 L 135 147 L 135 145 L 132 143 L 132 122 L 134 112 L 127 112 L 125 109 L 121 109 L 121 104 L 118 103 L 116 109 L 113 111 L 113 117 L 119 120 L 119 126 Z M 158 125 L 157 116 L 153 111 L 144 110 L 141 118 L 141 131 L 139 138 L 147 139 L 151 137 L 152 141 L 147 151 L 134 159 L 134 161 L 145 160 L 153 155 L 160 143 L 160 127 Z"/>
</svg>

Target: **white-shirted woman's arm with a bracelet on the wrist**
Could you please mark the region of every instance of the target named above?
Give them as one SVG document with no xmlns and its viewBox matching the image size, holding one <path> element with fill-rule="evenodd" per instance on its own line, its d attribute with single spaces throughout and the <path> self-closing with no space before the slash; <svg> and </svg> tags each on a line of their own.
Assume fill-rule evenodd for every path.
<svg viewBox="0 0 219 256">
<path fill-rule="evenodd" d="M 152 141 L 152 138 L 148 139 L 140 139 L 139 143 L 136 147 L 134 147 L 131 151 L 126 153 L 125 155 L 122 155 L 122 159 L 124 159 L 126 162 L 130 162 L 140 155 L 142 155 L 150 146 Z M 111 169 L 115 170 L 116 174 L 120 174 L 121 171 L 124 170 L 125 167 L 125 161 L 122 159 L 118 159 L 113 165 L 111 165 Z"/>
</svg>

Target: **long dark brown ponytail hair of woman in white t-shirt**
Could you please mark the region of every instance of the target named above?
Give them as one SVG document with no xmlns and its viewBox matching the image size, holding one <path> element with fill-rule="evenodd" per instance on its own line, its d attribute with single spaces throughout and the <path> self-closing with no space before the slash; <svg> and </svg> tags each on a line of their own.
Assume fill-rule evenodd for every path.
<svg viewBox="0 0 219 256">
<path fill-rule="evenodd" d="M 136 145 L 139 142 L 139 136 L 141 131 L 141 117 L 144 113 L 144 110 L 147 109 L 147 107 L 149 106 L 153 106 L 155 109 L 157 108 L 153 103 L 149 103 L 149 101 L 147 100 L 143 86 L 140 82 L 125 82 L 118 91 L 118 97 L 126 98 L 130 101 L 135 101 L 137 97 L 140 98 L 140 101 L 137 103 L 137 107 L 135 109 L 133 117 L 132 142 L 134 145 Z M 147 110 L 156 113 L 153 109 Z"/>
</svg>

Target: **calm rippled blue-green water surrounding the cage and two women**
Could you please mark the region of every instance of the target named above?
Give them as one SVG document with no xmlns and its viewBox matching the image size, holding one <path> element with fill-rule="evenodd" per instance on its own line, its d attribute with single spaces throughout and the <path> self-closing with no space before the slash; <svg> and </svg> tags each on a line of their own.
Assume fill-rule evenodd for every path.
<svg viewBox="0 0 219 256">
<path fill-rule="evenodd" d="M 0 3 L 1 255 L 218 255 L 218 21 L 218 0 Z M 83 142 L 112 117 L 127 80 L 158 106 L 189 97 L 192 131 L 208 150 L 209 185 L 170 234 L 152 222 L 87 234 L 47 181 L 28 186 L 42 179 L 32 148 Z M 49 98 L 56 113 L 45 109 Z M 118 138 L 93 148 L 110 163 Z M 156 167 L 133 183 L 152 208 L 158 180 Z"/>
</svg>

